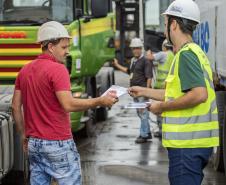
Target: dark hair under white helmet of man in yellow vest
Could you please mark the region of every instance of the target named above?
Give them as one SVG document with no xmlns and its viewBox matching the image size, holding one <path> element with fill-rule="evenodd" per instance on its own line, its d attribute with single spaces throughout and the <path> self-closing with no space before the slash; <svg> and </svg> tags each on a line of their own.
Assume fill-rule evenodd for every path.
<svg viewBox="0 0 226 185">
<path fill-rule="evenodd" d="M 195 22 L 195 21 L 188 20 L 188 19 L 181 18 L 181 17 L 176 17 L 176 16 L 169 16 L 168 20 L 169 20 L 169 22 L 168 22 L 169 25 L 172 23 L 173 20 L 176 20 L 180 26 L 181 31 L 183 33 L 189 34 L 191 36 L 197 25 L 197 22 Z"/>
</svg>

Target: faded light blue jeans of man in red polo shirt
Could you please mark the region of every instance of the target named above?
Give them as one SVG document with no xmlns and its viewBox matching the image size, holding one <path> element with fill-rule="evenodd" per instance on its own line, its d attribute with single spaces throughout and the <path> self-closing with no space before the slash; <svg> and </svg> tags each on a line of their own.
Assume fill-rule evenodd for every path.
<svg viewBox="0 0 226 185">
<path fill-rule="evenodd" d="M 80 156 L 73 139 L 50 141 L 29 138 L 31 185 L 81 185 Z"/>
</svg>

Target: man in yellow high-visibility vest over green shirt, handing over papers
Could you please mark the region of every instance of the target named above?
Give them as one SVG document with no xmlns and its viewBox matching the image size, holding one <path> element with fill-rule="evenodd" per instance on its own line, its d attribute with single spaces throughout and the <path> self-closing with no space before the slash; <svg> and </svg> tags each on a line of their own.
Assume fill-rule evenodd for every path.
<svg viewBox="0 0 226 185">
<path fill-rule="evenodd" d="M 133 97 L 146 96 L 149 110 L 163 117 L 162 142 L 168 150 L 171 185 L 201 185 L 203 169 L 219 145 L 219 123 L 212 70 L 192 33 L 200 11 L 192 0 L 175 0 L 163 13 L 165 34 L 176 55 L 166 89 L 131 87 Z"/>
</svg>

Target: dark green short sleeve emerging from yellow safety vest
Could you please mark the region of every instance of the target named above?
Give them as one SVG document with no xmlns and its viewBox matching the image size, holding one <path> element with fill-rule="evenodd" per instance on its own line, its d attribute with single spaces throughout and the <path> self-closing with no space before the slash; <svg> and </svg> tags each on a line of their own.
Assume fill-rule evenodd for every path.
<svg viewBox="0 0 226 185">
<path fill-rule="evenodd" d="M 195 87 L 206 87 L 205 78 L 198 57 L 192 51 L 180 55 L 179 77 L 182 92 Z"/>
</svg>

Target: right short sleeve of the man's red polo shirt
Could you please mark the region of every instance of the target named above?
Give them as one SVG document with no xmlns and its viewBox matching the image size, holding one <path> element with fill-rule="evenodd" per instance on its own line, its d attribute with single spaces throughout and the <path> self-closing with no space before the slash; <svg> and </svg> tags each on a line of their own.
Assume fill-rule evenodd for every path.
<svg viewBox="0 0 226 185">
<path fill-rule="evenodd" d="M 63 64 L 55 67 L 51 74 L 54 91 L 71 91 L 70 76 Z"/>
</svg>

